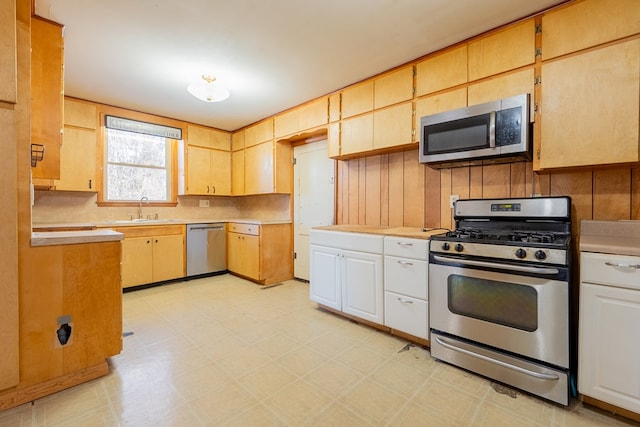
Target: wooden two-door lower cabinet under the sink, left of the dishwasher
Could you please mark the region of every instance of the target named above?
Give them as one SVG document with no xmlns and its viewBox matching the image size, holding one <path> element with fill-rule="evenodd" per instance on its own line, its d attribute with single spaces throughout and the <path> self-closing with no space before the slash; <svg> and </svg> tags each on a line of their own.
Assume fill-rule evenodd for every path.
<svg viewBox="0 0 640 427">
<path fill-rule="evenodd" d="M 185 276 L 185 226 L 121 227 L 122 287 Z"/>
</svg>

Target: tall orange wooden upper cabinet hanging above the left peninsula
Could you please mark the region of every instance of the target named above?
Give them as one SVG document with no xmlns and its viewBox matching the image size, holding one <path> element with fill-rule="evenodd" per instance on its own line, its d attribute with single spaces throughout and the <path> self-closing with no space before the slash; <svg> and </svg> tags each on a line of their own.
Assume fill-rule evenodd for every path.
<svg viewBox="0 0 640 427">
<path fill-rule="evenodd" d="M 33 178 L 60 178 L 63 126 L 63 26 L 31 19 L 31 143 L 45 146 Z"/>
</svg>

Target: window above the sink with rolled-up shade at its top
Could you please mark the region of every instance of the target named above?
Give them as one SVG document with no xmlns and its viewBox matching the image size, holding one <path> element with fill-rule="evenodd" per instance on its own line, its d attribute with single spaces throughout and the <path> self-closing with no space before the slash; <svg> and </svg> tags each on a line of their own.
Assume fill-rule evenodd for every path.
<svg viewBox="0 0 640 427">
<path fill-rule="evenodd" d="M 103 201 L 130 202 L 146 196 L 151 202 L 173 202 L 172 143 L 166 128 L 112 116 L 106 117 Z"/>
</svg>

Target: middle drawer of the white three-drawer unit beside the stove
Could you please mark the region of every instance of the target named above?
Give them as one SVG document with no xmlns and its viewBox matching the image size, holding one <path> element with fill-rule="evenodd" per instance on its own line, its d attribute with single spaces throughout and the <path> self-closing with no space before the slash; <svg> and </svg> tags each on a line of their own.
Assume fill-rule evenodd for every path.
<svg viewBox="0 0 640 427">
<path fill-rule="evenodd" d="M 427 261 L 384 257 L 384 289 L 414 298 L 428 299 Z"/>
</svg>

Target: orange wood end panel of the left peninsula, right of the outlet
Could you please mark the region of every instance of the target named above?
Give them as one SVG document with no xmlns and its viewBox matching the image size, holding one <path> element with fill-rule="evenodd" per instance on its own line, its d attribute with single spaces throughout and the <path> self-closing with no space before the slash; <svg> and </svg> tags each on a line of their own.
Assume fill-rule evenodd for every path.
<svg viewBox="0 0 640 427">
<path fill-rule="evenodd" d="M 120 242 L 63 248 L 63 309 L 71 316 L 71 338 L 62 347 L 64 373 L 105 361 L 122 351 Z"/>
</svg>

